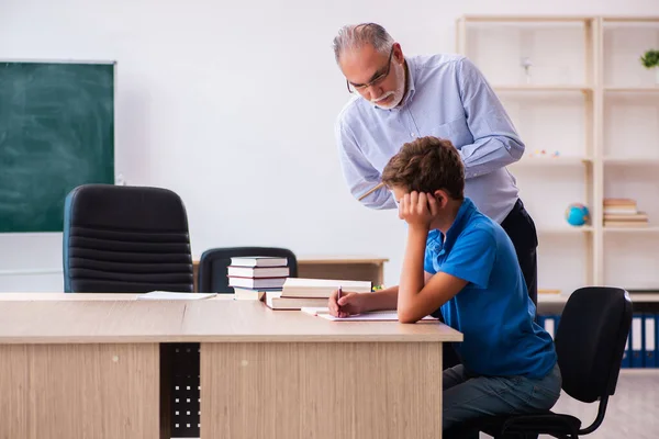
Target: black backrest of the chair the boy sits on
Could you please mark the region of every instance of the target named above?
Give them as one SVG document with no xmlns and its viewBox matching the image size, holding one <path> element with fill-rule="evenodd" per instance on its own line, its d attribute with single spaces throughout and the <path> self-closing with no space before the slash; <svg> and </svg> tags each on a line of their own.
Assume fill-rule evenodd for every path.
<svg viewBox="0 0 659 439">
<path fill-rule="evenodd" d="M 629 294 L 588 286 L 566 303 L 556 330 L 562 389 L 583 403 L 613 395 L 632 326 Z"/>
</svg>

